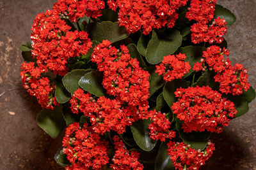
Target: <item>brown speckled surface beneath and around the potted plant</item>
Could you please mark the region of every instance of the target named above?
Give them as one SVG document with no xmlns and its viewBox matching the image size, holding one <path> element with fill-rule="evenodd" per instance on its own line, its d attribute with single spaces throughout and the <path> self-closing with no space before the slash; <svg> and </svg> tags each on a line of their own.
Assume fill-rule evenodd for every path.
<svg viewBox="0 0 256 170">
<path fill-rule="evenodd" d="M 0 169 L 60 169 L 54 153 L 61 137 L 52 140 L 35 122 L 40 106 L 20 82 L 20 44 L 29 40 L 37 13 L 51 8 L 52 0 L 0 0 Z M 232 63 L 248 68 L 256 87 L 256 1 L 221 0 L 237 16 L 226 39 Z M 202 169 L 256 169 L 256 101 L 250 111 L 230 122 L 220 135 L 212 136 L 216 152 Z M 15 115 L 13 115 L 15 113 Z"/>
</svg>

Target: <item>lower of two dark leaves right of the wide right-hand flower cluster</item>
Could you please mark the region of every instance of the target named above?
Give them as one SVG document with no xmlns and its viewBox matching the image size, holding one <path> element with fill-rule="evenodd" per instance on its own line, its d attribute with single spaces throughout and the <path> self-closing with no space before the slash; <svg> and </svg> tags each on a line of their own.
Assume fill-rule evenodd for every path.
<svg viewBox="0 0 256 170">
<path fill-rule="evenodd" d="M 232 101 L 235 104 L 237 110 L 236 117 L 241 117 L 249 111 L 249 105 L 243 96 L 233 96 L 232 94 L 228 94 L 223 95 L 223 97 L 227 97 L 228 100 Z"/>
</svg>

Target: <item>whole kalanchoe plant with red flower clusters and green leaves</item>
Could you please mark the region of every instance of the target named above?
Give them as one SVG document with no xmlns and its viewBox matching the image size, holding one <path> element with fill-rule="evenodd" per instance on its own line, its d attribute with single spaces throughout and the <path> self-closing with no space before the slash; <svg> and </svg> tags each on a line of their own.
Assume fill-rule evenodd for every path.
<svg viewBox="0 0 256 170">
<path fill-rule="evenodd" d="M 216 0 L 59 0 L 21 46 L 24 88 L 66 169 L 199 169 L 255 90 Z"/>
</svg>

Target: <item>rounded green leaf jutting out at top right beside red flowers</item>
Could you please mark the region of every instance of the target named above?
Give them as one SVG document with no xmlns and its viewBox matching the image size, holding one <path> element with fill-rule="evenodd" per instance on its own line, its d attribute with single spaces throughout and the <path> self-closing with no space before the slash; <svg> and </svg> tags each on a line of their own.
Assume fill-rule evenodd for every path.
<svg viewBox="0 0 256 170">
<path fill-rule="evenodd" d="M 223 8 L 220 4 L 216 4 L 214 18 L 224 18 L 228 25 L 233 25 L 236 22 L 236 15 L 227 8 Z"/>
</svg>

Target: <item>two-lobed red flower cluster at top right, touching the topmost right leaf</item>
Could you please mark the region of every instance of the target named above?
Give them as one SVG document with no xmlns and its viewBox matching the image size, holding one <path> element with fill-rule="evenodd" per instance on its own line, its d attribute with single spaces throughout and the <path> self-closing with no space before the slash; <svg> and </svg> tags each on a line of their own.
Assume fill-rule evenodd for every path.
<svg viewBox="0 0 256 170">
<path fill-rule="evenodd" d="M 190 8 L 186 13 L 189 20 L 196 20 L 191 26 L 191 40 L 193 43 L 221 43 L 227 32 L 226 21 L 223 18 L 216 18 L 211 25 L 207 25 L 214 17 L 214 10 L 217 0 L 192 0 Z"/>
</svg>

